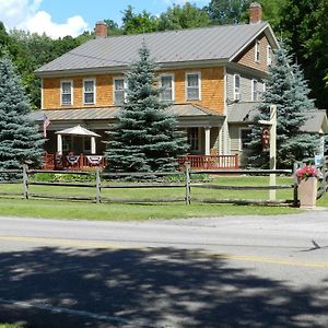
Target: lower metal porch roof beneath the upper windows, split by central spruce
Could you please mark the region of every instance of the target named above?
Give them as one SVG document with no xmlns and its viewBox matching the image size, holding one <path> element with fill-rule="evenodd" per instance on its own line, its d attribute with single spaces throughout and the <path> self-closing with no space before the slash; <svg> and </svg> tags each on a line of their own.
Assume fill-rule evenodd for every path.
<svg viewBox="0 0 328 328">
<path fill-rule="evenodd" d="M 46 109 L 32 112 L 30 117 L 35 121 L 43 121 L 44 114 L 50 121 L 62 120 L 113 120 L 117 118 L 120 107 L 104 108 L 74 108 L 74 109 Z M 194 105 L 172 105 L 167 108 L 167 113 L 177 117 L 223 117 L 214 110 Z"/>
</svg>

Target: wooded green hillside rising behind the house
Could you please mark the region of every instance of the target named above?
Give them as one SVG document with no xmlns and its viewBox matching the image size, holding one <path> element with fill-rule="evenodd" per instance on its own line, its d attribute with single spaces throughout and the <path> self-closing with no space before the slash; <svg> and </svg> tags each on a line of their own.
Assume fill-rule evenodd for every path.
<svg viewBox="0 0 328 328">
<path fill-rule="evenodd" d="M 180 30 L 220 24 L 247 23 L 251 0 L 211 0 L 199 8 L 196 4 L 174 4 L 155 16 L 143 10 L 134 12 L 128 7 L 122 12 L 121 24 L 110 16 L 104 21 L 110 35 L 140 34 L 166 30 Z M 328 84 L 328 2 L 326 0 L 259 0 L 263 9 L 263 20 L 268 21 L 279 39 L 284 39 L 293 61 L 304 70 L 305 80 L 312 90 L 309 96 L 318 108 L 328 108 L 326 96 Z M 101 19 L 101 17 L 99 17 Z M 51 39 L 46 35 L 23 31 L 5 31 L 0 22 L 0 56 L 4 49 L 22 75 L 23 84 L 34 109 L 40 105 L 40 81 L 34 70 L 42 65 L 94 37 L 84 32 L 73 38 Z"/>
</svg>

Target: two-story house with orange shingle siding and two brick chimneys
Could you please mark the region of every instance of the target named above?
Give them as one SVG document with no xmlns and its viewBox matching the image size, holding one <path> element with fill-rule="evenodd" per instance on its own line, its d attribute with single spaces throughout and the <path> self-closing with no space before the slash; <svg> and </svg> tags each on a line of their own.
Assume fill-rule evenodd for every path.
<svg viewBox="0 0 328 328">
<path fill-rule="evenodd" d="M 42 126 L 45 115 L 46 151 L 102 154 L 106 130 L 125 102 L 125 73 L 138 59 L 142 43 L 157 69 L 162 99 L 185 129 L 190 154 L 238 154 L 249 130 L 238 121 L 260 99 L 263 79 L 279 47 L 270 25 L 261 21 L 261 7 L 250 5 L 249 24 L 107 36 L 98 22 L 95 39 L 65 54 L 36 71 L 42 79 L 42 110 L 33 117 Z M 245 109 L 246 108 L 246 109 Z M 87 130 L 94 132 L 92 138 Z M 75 133 L 74 133 L 75 131 Z"/>
</svg>

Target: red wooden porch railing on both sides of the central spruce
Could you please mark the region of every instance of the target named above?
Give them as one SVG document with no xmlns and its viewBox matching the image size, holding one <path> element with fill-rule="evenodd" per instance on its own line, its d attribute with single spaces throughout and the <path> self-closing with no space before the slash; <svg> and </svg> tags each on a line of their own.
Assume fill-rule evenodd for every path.
<svg viewBox="0 0 328 328">
<path fill-rule="evenodd" d="M 190 163 L 192 169 L 237 169 L 238 155 L 187 155 L 178 159 L 179 166 Z M 55 171 L 89 171 L 99 167 L 103 169 L 108 161 L 103 155 L 86 154 L 48 154 L 45 153 L 43 169 Z M 110 165 L 110 163 L 109 163 Z"/>
</svg>

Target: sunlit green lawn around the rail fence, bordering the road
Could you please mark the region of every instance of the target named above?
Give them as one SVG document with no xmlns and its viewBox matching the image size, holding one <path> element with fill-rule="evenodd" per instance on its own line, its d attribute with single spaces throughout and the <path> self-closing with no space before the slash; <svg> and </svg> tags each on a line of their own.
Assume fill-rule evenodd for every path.
<svg viewBox="0 0 328 328">
<path fill-rule="evenodd" d="M 115 183 L 118 184 L 118 183 Z M 211 179 L 214 185 L 268 185 L 268 177 L 222 176 Z M 278 184 L 291 185 L 291 178 L 279 177 Z M 31 186 L 31 192 L 45 195 L 75 195 L 95 196 L 94 188 L 78 187 L 45 187 Z M 0 192 L 22 192 L 21 185 L 0 185 Z M 102 189 L 103 197 L 110 198 L 184 198 L 184 188 L 164 189 Z M 238 199 L 268 199 L 268 191 L 257 190 L 210 190 L 202 188 L 191 189 L 192 198 L 238 198 Z M 292 189 L 278 190 L 278 199 L 292 199 Z M 325 196 L 317 206 L 328 207 L 328 197 Z M 65 200 L 24 200 L 22 197 L 0 198 L 2 215 L 50 218 L 50 219 L 87 219 L 87 220 L 150 220 L 192 216 L 221 216 L 238 214 L 282 214 L 295 213 L 298 209 L 286 207 L 235 206 L 235 204 L 203 204 L 194 202 L 186 206 L 183 201 L 175 203 L 92 203 L 87 201 Z"/>
</svg>

